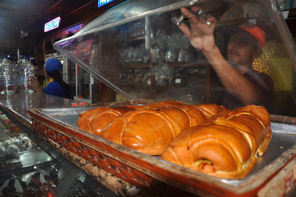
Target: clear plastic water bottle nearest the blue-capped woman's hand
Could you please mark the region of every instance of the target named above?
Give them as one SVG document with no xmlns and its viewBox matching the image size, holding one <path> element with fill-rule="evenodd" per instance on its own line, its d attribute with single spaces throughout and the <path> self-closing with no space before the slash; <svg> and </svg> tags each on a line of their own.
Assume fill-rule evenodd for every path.
<svg viewBox="0 0 296 197">
<path fill-rule="evenodd" d="M 27 55 L 22 55 L 15 68 L 17 92 L 34 92 L 34 89 L 27 85 L 27 83 L 29 83 L 27 79 L 30 79 L 29 76 L 34 76 L 34 66 L 28 58 Z"/>
</svg>

